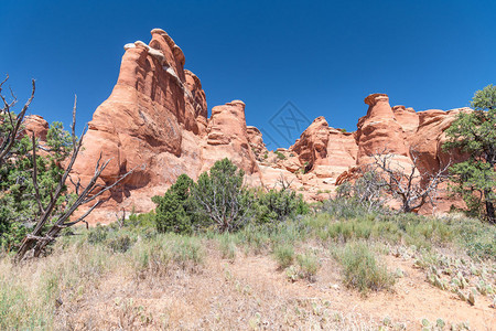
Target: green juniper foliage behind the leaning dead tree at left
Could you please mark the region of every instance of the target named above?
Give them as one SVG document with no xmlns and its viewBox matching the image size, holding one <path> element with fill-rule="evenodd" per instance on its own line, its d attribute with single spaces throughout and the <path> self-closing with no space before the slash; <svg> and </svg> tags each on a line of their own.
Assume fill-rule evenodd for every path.
<svg viewBox="0 0 496 331">
<path fill-rule="evenodd" d="M 2 141 L 2 137 L 7 136 L 12 128 L 7 115 L 0 116 L 2 117 L 0 118 L 0 141 Z M 53 122 L 44 147 L 51 153 L 36 156 L 39 192 L 44 205 L 50 202 L 51 192 L 54 191 L 63 174 L 58 163 L 71 150 L 69 138 L 61 122 Z M 41 213 L 32 181 L 34 162 L 32 149 L 30 137 L 19 138 L 13 142 L 10 157 L 0 163 L 0 247 L 3 249 L 15 249 L 26 234 L 26 225 L 34 222 Z M 56 202 L 54 215 L 61 214 L 64 204 L 71 199 L 64 185 L 63 195 Z"/>
</svg>

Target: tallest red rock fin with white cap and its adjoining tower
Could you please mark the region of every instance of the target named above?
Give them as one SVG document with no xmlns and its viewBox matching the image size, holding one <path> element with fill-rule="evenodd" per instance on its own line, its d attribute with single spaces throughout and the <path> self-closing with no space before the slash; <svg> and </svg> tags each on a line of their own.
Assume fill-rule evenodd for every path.
<svg viewBox="0 0 496 331">
<path fill-rule="evenodd" d="M 181 49 L 163 30 L 151 34 L 149 44 L 125 46 L 117 84 L 96 109 L 73 170 L 83 183 L 88 181 L 100 153 L 103 161 L 111 160 L 101 184 L 133 170 L 105 196 L 93 217 L 101 222 L 122 207 L 152 210 L 151 197 L 163 194 L 180 174 L 196 179 L 226 157 L 259 182 L 244 103 L 214 107 L 208 119 L 205 92 L 200 78 L 184 70 Z"/>
</svg>

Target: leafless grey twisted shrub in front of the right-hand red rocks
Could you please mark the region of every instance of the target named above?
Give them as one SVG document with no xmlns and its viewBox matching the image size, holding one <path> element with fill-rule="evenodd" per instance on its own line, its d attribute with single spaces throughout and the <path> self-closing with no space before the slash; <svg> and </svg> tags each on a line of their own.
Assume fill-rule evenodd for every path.
<svg viewBox="0 0 496 331">
<path fill-rule="evenodd" d="M 428 171 L 421 173 L 418 167 L 418 152 L 412 149 L 410 156 L 412 161 L 411 169 L 406 169 L 395 162 L 392 160 L 393 154 L 386 150 L 373 156 L 373 166 L 381 172 L 387 182 L 385 186 L 386 192 L 400 200 L 400 210 L 403 213 L 416 211 L 427 202 L 435 205 L 438 186 L 448 178 L 448 168 L 451 166 L 449 162 L 433 173 Z"/>
</svg>

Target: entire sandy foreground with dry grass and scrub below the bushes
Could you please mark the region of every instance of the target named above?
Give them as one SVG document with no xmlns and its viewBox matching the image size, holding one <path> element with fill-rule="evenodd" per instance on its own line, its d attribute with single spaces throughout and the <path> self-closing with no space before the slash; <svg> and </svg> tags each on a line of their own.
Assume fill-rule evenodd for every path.
<svg viewBox="0 0 496 331">
<path fill-rule="evenodd" d="M 450 280 L 457 259 L 440 256 L 466 249 L 463 242 L 454 246 L 461 225 L 407 221 L 345 224 L 320 215 L 201 236 L 83 231 L 37 260 L 14 266 L 0 258 L 0 330 L 401 330 L 439 318 L 488 329 L 496 322 L 490 295 L 477 296 L 472 307 L 425 281 L 433 267 Z M 430 234 L 439 246 L 422 244 Z M 494 285 L 493 259 L 463 259 L 466 281 L 485 277 Z M 401 269 L 395 285 L 386 266 Z M 390 290 L 359 292 L 384 288 Z"/>
</svg>

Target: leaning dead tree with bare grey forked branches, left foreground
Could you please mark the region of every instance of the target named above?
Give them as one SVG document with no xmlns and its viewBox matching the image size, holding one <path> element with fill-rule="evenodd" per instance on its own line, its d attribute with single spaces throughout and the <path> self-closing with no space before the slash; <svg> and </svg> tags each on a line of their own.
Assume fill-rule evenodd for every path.
<svg viewBox="0 0 496 331">
<path fill-rule="evenodd" d="M 71 159 L 68 160 L 67 166 L 65 167 L 64 173 L 61 177 L 61 180 L 57 183 L 57 186 L 54 192 L 51 192 L 50 202 L 46 204 L 43 204 L 42 196 L 40 195 L 40 186 L 37 181 L 37 166 L 36 166 L 36 140 L 33 135 L 32 137 L 32 143 L 33 143 L 33 172 L 32 172 L 32 179 L 33 179 L 33 186 L 35 191 L 35 199 L 37 202 L 39 207 L 39 216 L 35 220 L 35 226 L 34 229 L 28 234 L 24 239 L 21 243 L 21 247 L 17 254 L 15 259 L 22 260 L 29 252 L 33 252 L 34 257 L 39 257 L 40 254 L 44 250 L 46 245 L 54 242 L 62 229 L 73 226 L 79 222 L 84 222 L 85 217 L 87 217 L 101 202 L 99 197 L 105 192 L 111 190 L 117 184 L 119 184 L 125 178 L 127 178 L 129 174 L 132 173 L 132 170 L 121 175 L 119 179 L 117 179 L 116 182 L 114 182 L 110 185 L 101 185 L 97 183 L 97 180 L 99 179 L 101 172 L 106 169 L 110 160 L 107 160 L 106 162 L 101 162 L 101 153 L 98 158 L 98 161 L 95 166 L 95 172 L 89 180 L 88 184 L 86 186 L 83 186 L 80 184 L 80 181 L 74 182 L 71 178 L 71 171 L 73 169 L 74 162 L 77 159 L 77 154 L 79 153 L 83 138 L 86 132 L 86 128 L 83 130 L 83 135 L 78 139 L 75 134 L 75 127 L 76 127 L 76 102 L 77 98 L 74 99 L 74 108 L 73 108 L 73 122 L 71 126 L 71 137 L 72 137 L 72 154 Z M 67 202 L 65 205 L 65 209 L 60 215 L 55 215 L 55 207 L 57 204 L 57 201 L 60 196 L 63 193 L 64 186 L 66 184 L 67 179 L 73 182 L 75 185 L 75 200 Z M 69 217 L 74 214 L 74 212 L 80 206 L 85 205 L 87 203 L 95 202 L 89 210 L 84 213 L 82 216 L 79 216 L 75 221 L 71 221 Z"/>
</svg>

